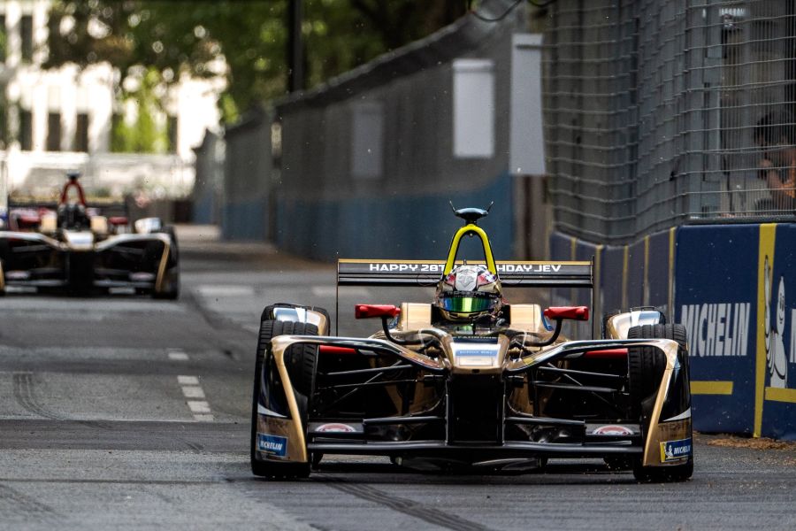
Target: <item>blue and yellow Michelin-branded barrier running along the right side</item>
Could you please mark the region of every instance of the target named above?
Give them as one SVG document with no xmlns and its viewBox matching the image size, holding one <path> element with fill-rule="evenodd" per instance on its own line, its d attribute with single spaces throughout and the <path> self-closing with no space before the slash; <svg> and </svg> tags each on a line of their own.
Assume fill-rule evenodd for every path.
<svg viewBox="0 0 796 531">
<path fill-rule="evenodd" d="M 555 234 L 550 249 L 595 258 L 595 316 L 651 305 L 685 325 L 696 429 L 796 440 L 796 225 L 685 226 L 626 246 Z"/>
</svg>

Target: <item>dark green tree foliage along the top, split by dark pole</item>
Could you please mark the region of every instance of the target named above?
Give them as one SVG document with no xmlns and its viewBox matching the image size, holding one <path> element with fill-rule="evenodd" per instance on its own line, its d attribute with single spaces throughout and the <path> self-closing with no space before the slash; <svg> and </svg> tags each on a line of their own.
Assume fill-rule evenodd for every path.
<svg viewBox="0 0 796 531">
<path fill-rule="evenodd" d="M 144 67 L 166 83 L 181 73 L 224 75 L 220 107 L 233 120 L 252 104 L 286 92 L 289 4 L 57 0 L 50 9 L 45 66 L 108 61 L 122 79 Z M 462 16 L 465 7 L 464 0 L 303 0 L 308 88 L 432 33 Z"/>
</svg>

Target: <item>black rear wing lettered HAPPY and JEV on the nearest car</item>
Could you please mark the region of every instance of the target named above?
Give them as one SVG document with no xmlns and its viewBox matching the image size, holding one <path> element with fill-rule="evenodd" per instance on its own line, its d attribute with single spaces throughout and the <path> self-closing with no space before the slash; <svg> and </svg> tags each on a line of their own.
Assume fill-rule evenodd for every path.
<svg viewBox="0 0 796 531">
<path fill-rule="evenodd" d="M 496 261 L 495 266 L 506 288 L 593 288 L 594 285 L 593 261 Z M 431 287 L 440 281 L 444 270 L 444 260 L 340 259 L 337 285 Z"/>
</svg>

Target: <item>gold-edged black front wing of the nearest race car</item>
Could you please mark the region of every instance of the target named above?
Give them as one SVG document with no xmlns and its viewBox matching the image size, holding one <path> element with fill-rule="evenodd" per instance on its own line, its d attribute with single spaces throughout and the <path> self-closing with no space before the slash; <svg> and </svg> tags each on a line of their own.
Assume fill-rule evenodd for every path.
<svg viewBox="0 0 796 531">
<path fill-rule="evenodd" d="M 295 389 L 285 366 L 285 352 L 299 343 L 317 344 L 321 350 L 350 350 L 375 356 L 394 356 L 402 364 L 417 370 L 418 381 L 442 379 L 446 381 L 446 395 L 442 402 L 454 400 L 448 389 L 450 364 L 446 360 L 427 358 L 393 342 L 378 339 L 356 339 L 317 336 L 277 336 L 270 349 L 266 349 L 263 374 L 263 391 L 258 397 L 256 419 L 257 450 L 259 458 L 306 462 L 311 453 L 337 453 L 361 455 L 417 455 L 424 457 L 488 456 L 489 458 L 608 458 L 611 456 L 643 455 L 645 466 L 669 466 L 682 463 L 690 456 L 691 410 L 686 389 L 678 389 L 687 379 L 680 370 L 677 342 L 665 339 L 605 340 L 566 342 L 547 350 L 510 361 L 501 381 L 524 377 L 534 368 L 551 362 L 576 359 L 589 352 L 651 346 L 662 350 L 666 356 L 666 369 L 655 396 L 654 408 L 648 428 L 639 419 L 619 419 L 615 422 L 583 419 L 556 419 L 512 412 L 500 404 L 501 434 L 510 427 L 524 426 L 534 430 L 566 434 L 558 442 L 545 440 L 509 439 L 501 434 L 493 441 L 454 440 L 455 422 L 449 404 L 439 404 L 423 412 L 380 418 L 341 419 L 316 417 L 307 419 L 299 408 Z M 323 355 L 323 354 L 321 354 Z M 271 361 L 271 365 L 269 365 Z M 397 362 L 396 362 L 397 363 Z M 271 367 L 269 369 L 269 366 Z M 390 367 L 384 368 L 389 370 Z M 270 371 L 270 374 L 268 373 Z M 379 369 L 371 369 L 374 373 Z M 599 388 L 581 389 L 585 393 L 601 392 Z M 282 392 L 281 399 L 275 396 Z M 685 393 L 685 400 L 683 394 Z M 505 395 L 503 396 L 505 399 Z M 677 403 L 674 404 L 673 403 Z M 666 406 L 666 407 L 664 407 Z M 677 407 L 683 411 L 677 411 Z M 671 415 L 672 408 L 677 414 Z M 668 412 L 664 415 L 663 412 Z M 397 433 L 384 427 L 439 426 L 439 436 L 427 439 L 386 440 L 386 434 Z M 529 432 L 537 433 L 537 432 Z M 374 438 L 375 437 L 375 438 Z M 687 455 L 684 449 L 687 447 Z"/>
</svg>

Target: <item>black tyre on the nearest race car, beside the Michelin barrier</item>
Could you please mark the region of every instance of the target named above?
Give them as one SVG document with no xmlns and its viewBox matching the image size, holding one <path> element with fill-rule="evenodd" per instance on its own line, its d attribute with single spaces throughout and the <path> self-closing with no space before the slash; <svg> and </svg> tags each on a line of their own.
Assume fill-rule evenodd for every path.
<svg viewBox="0 0 796 531">
<path fill-rule="evenodd" d="M 683 325 L 644 325 L 631 327 L 628 339 L 671 339 L 685 350 L 687 332 Z M 631 414 L 640 418 L 641 428 L 646 435 L 657 396 L 666 357 L 654 347 L 632 347 L 628 349 L 628 391 L 631 400 Z M 687 358 L 686 358 L 687 363 Z M 687 370 L 687 367 L 686 367 Z M 692 447 L 693 452 L 693 447 Z M 683 465 L 643 466 L 643 457 L 632 463 L 633 476 L 643 482 L 686 481 L 693 475 L 693 454 Z"/>
</svg>

